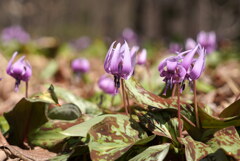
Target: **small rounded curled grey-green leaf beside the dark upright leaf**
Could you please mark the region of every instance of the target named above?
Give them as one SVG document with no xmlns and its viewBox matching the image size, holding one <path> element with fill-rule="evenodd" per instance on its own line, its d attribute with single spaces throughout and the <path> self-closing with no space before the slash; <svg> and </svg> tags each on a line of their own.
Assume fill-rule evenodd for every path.
<svg viewBox="0 0 240 161">
<path fill-rule="evenodd" d="M 75 120 L 81 116 L 81 111 L 73 103 L 63 104 L 52 108 L 48 112 L 48 117 L 55 120 Z"/>
</svg>

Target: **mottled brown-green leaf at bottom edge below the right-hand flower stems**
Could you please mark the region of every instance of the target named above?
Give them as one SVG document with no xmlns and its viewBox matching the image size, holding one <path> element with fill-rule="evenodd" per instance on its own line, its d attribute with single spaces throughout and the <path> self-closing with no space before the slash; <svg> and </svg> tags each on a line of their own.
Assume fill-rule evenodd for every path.
<svg viewBox="0 0 240 161">
<path fill-rule="evenodd" d="M 213 153 L 209 145 L 193 140 L 190 136 L 180 138 L 185 146 L 185 156 L 187 161 L 198 161 L 208 154 Z"/>
</svg>

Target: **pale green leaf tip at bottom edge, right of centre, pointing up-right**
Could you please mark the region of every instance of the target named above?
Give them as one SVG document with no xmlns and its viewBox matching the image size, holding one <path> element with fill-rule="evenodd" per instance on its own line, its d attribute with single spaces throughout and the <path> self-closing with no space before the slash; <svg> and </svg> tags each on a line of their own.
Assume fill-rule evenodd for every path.
<svg viewBox="0 0 240 161">
<path fill-rule="evenodd" d="M 170 143 L 150 146 L 130 161 L 163 161 L 169 151 Z"/>
</svg>

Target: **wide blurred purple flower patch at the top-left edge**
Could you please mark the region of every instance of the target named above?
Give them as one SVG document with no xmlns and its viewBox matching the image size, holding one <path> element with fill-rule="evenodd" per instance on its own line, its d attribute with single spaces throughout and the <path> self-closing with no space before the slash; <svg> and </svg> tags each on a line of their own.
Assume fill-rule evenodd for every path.
<svg viewBox="0 0 240 161">
<path fill-rule="evenodd" d="M 1 39 L 3 42 L 17 41 L 27 43 L 30 40 L 29 34 L 20 26 L 11 26 L 2 30 Z"/>
</svg>

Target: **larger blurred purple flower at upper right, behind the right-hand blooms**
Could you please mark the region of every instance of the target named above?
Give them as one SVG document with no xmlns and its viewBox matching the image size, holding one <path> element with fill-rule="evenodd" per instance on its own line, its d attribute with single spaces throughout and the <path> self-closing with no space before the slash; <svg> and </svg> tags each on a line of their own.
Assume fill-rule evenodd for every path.
<svg viewBox="0 0 240 161">
<path fill-rule="evenodd" d="M 206 53 L 212 53 L 216 50 L 217 40 L 215 32 L 201 31 L 197 35 L 197 42 L 206 50 Z"/>
</svg>

